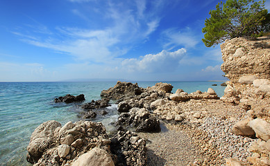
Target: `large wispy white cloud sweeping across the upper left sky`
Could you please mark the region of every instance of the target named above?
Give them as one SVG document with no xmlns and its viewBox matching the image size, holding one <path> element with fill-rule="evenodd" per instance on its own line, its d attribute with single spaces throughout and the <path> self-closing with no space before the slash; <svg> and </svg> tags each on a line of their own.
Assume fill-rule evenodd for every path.
<svg viewBox="0 0 270 166">
<path fill-rule="evenodd" d="M 88 0 L 70 1 L 100 3 Z M 51 33 L 46 26 L 43 26 L 41 31 L 47 31 L 51 33 L 50 35 L 39 35 L 38 33 L 41 32 L 37 31 L 25 33 L 22 30 L 16 31 L 14 34 L 28 44 L 67 53 L 77 59 L 108 62 L 112 58 L 127 53 L 136 44 L 144 42 L 159 26 L 160 19 L 153 15 L 151 10 L 146 12 L 146 1 L 136 2 L 134 5 L 129 2 L 109 1 L 105 5 L 99 6 L 104 11 L 100 21 L 103 19 L 108 21 L 108 23 L 103 22 L 106 26 L 100 28 L 58 26 L 53 29 L 54 33 Z M 90 20 L 85 13 L 78 9 L 71 10 L 71 12 L 85 21 Z"/>
</svg>

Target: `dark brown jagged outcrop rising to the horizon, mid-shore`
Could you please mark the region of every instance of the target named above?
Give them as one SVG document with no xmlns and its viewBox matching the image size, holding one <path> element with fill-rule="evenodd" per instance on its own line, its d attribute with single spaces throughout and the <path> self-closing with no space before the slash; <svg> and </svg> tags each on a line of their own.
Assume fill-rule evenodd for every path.
<svg viewBox="0 0 270 166">
<path fill-rule="evenodd" d="M 137 83 L 133 84 L 131 82 L 117 82 L 114 87 L 101 91 L 101 97 L 119 100 L 121 98 L 140 95 L 143 93 L 143 91 L 144 89 L 140 88 Z"/>
</svg>

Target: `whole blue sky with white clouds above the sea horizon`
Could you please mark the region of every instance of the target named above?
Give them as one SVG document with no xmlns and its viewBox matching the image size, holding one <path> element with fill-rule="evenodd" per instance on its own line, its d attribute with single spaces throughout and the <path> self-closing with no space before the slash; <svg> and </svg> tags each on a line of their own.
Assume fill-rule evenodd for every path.
<svg viewBox="0 0 270 166">
<path fill-rule="evenodd" d="M 2 0 L 0 82 L 225 80 L 201 41 L 218 2 Z"/>
</svg>

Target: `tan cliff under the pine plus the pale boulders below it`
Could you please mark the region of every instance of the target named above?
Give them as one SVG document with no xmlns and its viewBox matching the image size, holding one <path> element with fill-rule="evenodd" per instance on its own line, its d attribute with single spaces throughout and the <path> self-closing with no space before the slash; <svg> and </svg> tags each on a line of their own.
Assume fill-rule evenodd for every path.
<svg viewBox="0 0 270 166">
<path fill-rule="evenodd" d="M 235 135 L 255 133 L 247 160 L 253 165 L 269 165 L 270 149 L 270 36 L 258 39 L 235 38 L 221 44 L 221 70 L 230 79 L 221 98 L 246 110 L 233 126 Z M 246 132 L 248 131 L 248 132 Z"/>
</svg>

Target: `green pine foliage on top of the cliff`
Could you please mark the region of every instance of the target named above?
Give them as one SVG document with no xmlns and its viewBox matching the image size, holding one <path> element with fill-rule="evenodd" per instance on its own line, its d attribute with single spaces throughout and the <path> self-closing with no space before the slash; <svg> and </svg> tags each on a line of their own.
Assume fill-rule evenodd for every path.
<svg viewBox="0 0 270 166">
<path fill-rule="evenodd" d="M 217 4 L 205 20 L 203 43 L 207 47 L 217 45 L 226 39 L 259 35 L 270 31 L 270 14 L 263 1 L 227 0 Z"/>
</svg>

